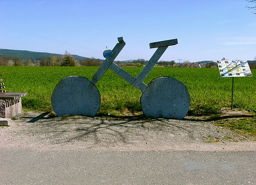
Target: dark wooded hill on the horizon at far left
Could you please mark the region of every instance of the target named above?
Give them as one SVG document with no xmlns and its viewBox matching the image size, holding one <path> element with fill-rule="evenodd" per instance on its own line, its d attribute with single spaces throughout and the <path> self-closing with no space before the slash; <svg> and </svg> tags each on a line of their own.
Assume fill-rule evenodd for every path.
<svg viewBox="0 0 256 185">
<path fill-rule="evenodd" d="M 0 49 L 0 56 L 18 56 L 22 60 L 40 60 L 42 57 L 52 57 L 53 55 L 60 57 L 60 54 L 55 53 L 44 53 L 35 51 L 25 51 L 25 50 L 11 50 L 11 49 Z M 77 60 L 86 59 L 87 57 L 72 55 Z"/>
</svg>

